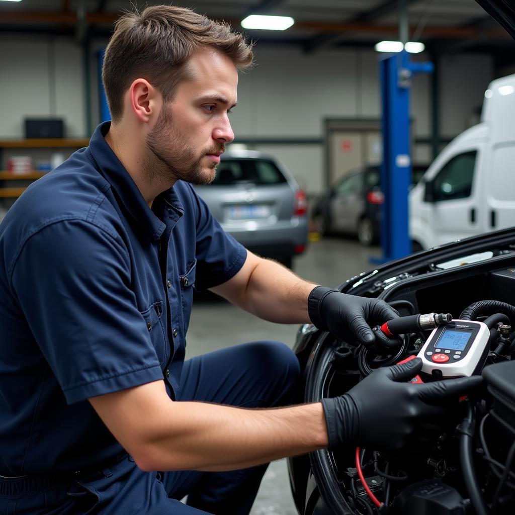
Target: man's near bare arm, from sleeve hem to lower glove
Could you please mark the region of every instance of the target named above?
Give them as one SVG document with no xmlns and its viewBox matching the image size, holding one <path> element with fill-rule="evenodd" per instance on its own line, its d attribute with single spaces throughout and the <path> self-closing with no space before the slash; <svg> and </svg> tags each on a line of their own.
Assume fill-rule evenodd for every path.
<svg viewBox="0 0 515 515">
<path fill-rule="evenodd" d="M 171 401 L 162 381 L 90 402 L 144 470 L 234 470 L 328 445 L 321 403 L 245 409 Z"/>
</svg>

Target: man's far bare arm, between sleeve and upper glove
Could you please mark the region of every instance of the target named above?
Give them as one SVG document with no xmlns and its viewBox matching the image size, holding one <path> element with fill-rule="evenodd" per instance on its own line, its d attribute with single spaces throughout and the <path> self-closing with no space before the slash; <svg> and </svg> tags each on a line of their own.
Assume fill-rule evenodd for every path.
<svg viewBox="0 0 515 515">
<path fill-rule="evenodd" d="M 278 323 L 310 322 L 307 297 L 317 286 L 271 260 L 249 253 L 242 269 L 246 281 L 235 280 L 213 288 L 244 310 L 264 320 Z"/>
</svg>

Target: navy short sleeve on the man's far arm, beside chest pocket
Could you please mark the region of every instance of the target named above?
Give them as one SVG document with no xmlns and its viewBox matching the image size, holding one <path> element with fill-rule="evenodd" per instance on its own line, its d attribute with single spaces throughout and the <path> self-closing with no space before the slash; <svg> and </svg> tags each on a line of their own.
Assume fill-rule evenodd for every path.
<svg viewBox="0 0 515 515">
<path fill-rule="evenodd" d="M 207 204 L 195 193 L 197 207 L 195 288 L 204 290 L 225 283 L 247 259 L 247 249 L 224 231 Z"/>
</svg>

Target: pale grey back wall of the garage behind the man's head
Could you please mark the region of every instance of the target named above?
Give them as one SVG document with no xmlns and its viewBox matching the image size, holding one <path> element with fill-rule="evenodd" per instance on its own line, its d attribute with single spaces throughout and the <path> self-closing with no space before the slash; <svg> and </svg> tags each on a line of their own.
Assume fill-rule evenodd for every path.
<svg viewBox="0 0 515 515">
<path fill-rule="evenodd" d="M 98 123 L 96 50 L 90 46 L 91 113 L 85 101 L 84 57 L 73 38 L 0 36 L 2 117 L 0 139 L 23 137 L 27 116 L 63 117 L 68 138 L 90 135 Z M 425 56 L 417 56 L 424 60 Z M 239 105 L 232 116 L 236 139 L 278 156 L 308 193 L 324 184 L 325 117 L 379 118 L 379 65 L 373 50 L 323 50 L 304 54 L 297 47 L 256 45 L 256 66 L 241 74 Z M 493 78 L 488 56 L 455 56 L 440 61 L 440 130 L 454 136 L 467 128 L 474 108 Z M 413 81 L 415 135 L 431 135 L 431 79 Z M 429 145 L 415 148 L 414 160 L 431 159 Z"/>
</svg>

